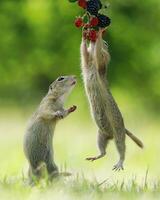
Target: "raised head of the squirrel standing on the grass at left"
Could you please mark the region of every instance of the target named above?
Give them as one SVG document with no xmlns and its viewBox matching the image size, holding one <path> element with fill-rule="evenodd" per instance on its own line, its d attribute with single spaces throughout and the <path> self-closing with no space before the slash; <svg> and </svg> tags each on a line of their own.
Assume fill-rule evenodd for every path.
<svg viewBox="0 0 160 200">
<path fill-rule="evenodd" d="M 76 76 L 60 76 L 50 86 L 48 95 L 55 99 L 64 99 L 76 85 Z"/>
</svg>

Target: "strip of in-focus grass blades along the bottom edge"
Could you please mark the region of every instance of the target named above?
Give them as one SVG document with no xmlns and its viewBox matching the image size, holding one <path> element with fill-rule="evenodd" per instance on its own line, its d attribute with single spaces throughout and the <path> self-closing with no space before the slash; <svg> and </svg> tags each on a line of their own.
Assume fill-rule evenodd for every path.
<svg viewBox="0 0 160 200">
<path fill-rule="evenodd" d="M 138 184 L 136 178 L 110 182 L 89 181 L 85 175 L 61 178 L 52 183 L 41 180 L 29 186 L 24 177 L 6 177 L 0 182 L 1 199 L 158 199 L 160 183 L 145 181 Z"/>
</svg>

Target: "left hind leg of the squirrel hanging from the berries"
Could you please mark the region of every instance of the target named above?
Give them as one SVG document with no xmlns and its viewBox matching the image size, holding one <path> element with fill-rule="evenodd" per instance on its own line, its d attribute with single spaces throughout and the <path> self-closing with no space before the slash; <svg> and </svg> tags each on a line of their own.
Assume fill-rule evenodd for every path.
<svg viewBox="0 0 160 200">
<path fill-rule="evenodd" d="M 100 154 L 98 156 L 95 156 L 95 157 L 86 158 L 86 160 L 95 161 L 95 160 L 98 160 L 100 158 L 103 158 L 106 155 L 106 147 L 107 147 L 107 144 L 109 142 L 109 139 L 110 138 L 108 138 L 108 136 L 106 134 L 103 134 L 99 131 L 97 141 L 98 141 L 98 149 L 100 151 Z"/>
</svg>

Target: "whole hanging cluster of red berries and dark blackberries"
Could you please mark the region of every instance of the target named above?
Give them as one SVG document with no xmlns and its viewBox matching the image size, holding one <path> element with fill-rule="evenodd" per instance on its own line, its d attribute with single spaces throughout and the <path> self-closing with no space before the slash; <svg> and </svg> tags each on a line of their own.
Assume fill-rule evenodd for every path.
<svg viewBox="0 0 160 200">
<path fill-rule="evenodd" d="M 83 28 L 83 35 L 86 39 L 93 42 L 97 39 L 97 32 L 99 29 L 105 29 L 110 25 L 111 20 L 108 16 L 100 13 L 103 9 L 101 0 L 69 0 L 70 2 L 77 2 L 78 6 L 85 10 L 82 17 L 77 17 L 75 26 Z"/>
</svg>

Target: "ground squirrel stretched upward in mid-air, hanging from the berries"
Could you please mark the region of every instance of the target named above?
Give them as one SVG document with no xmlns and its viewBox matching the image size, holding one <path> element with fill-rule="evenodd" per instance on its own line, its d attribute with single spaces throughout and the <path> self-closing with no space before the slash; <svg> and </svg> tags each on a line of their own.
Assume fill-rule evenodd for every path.
<svg viewBox="0 0 160 200">
<path fill-rule="evenodd" d="M 125 159 L 125 135 L 127 134 L 139 147 L 143 148 L 143 144 L 125 128 L 121 112 L 109 90 L 106 68 L 110 55 L 102 39 L 102 31 L 98 32 L 97 41 L 90 42 L 89 47 L 84 37 L 81 43 L 82 74 L 91 114 L 98 126 L 100 150 L 99 156 L 90 157 L 87 160 L 94 161 L 105 156 L 108 141 L 114 139 L 120 159 L 113 169 L 120 170 L 123 169 Z"/>
</svg>

